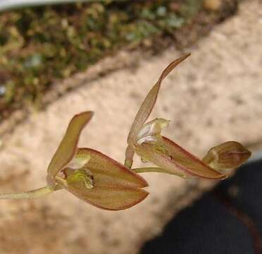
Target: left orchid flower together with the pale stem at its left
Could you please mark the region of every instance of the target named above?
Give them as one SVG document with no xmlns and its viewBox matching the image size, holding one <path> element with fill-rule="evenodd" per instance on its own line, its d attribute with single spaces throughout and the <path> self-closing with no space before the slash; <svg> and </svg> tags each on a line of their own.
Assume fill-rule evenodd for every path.
<svg viewBox="0 0 262 254">
<path fill-rule="evenodd" d="M 1 194 L 0 199 L 39 198 L 65 189 L 105 210 L 123 210 L 144 200 L 149 193 L 143 188 L 148 184 L 139 174 L 99 151 L 77 147 L 80 133 L 92 116 L 92 111 L 85 111 L 70 121 L 47 169 L 46 187 Z"/>
</svg>

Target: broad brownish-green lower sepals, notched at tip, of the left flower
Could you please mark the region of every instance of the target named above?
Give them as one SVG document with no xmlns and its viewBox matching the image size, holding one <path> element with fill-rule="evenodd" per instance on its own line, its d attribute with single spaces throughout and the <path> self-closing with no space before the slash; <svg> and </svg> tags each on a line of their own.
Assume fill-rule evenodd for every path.
<svg viewBox="0 0 262 254">
<path fill-rule="evenodd" d="M 123 210 L 149 195 L 142 189 L 148 186 L 142 176 L 101 152 L 79 148 L 74 159 L 82 164 L 87 158 L 89 160 L 82 169 L 64 170 L 70 181 L 66 181 L 66 185 L 63 181 L 62 184 L 77 198 L 105 210 Z"/>
</svg>

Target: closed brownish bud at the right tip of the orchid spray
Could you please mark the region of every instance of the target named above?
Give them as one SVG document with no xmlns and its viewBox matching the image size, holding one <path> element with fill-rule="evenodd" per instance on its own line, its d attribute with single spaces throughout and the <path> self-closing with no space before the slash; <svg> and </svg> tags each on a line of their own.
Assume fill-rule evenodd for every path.
<svg viewBox="0 0 262 254">
<path fill-rule="evenodd" d="M 247 161 L 251 152 L 236 141 L 227 141 L 212 147 L 203 162 L 216 170 L 235 169 Z"/>
</svg>

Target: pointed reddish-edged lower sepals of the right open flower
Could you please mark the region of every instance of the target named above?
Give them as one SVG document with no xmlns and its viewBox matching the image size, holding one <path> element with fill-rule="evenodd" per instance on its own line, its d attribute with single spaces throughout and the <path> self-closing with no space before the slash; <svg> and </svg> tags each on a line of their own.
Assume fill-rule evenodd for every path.
<svg viewBox="0 0 262 254">
<path fill-rule="evenodd" d="M 169 174 L 182 177 L 198 176 L 205 179 L 225 179 L 226 177 L 166 137 L 162 137 L 162 140 L 156 143 L 136 145 L 135 148 L 139 156 L 166 169 Z"/>
</svg>

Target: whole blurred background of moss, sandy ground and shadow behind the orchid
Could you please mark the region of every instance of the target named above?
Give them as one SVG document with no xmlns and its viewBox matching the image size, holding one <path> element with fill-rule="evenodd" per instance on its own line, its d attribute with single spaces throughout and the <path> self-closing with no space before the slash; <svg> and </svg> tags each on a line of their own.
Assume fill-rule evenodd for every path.
<svg viewBox="0 0 262 254">
<path fill-rule="evenodd" d="M 262 253 L 261 44 L 260 0 L 0 0 L 1 193 L 45 185 L 80 111 L 95 111 L 80 147 L 123 162 L 142 99 L 185 52 L 151 119 L 197 157 L 254 152 L 223 182 L 144 174 L 150 195 L 120 212 L 66 191 L 1 200 L 0 253 Z"/>
</svg>

